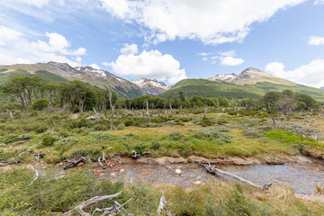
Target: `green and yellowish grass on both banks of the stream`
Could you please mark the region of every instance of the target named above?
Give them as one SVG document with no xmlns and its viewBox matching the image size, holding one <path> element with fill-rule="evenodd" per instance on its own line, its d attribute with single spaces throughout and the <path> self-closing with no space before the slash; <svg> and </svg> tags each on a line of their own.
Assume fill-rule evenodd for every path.
<svg viewBox="0 0 324 216">
<path fill-rule="evenodd" d="M 211 182 L 187 189 L 180 186 L 112 183 L 96 179 L 88 171 L 72 171 L 59 180 L 55 176 L 57 164 L 66 158 L 89 156 L 96 161 L 101 157 L 103 146 L 107 154 L 129 156 L 147 148 L 151 157 L 259 157 L 259 155 L 301 154 L 302 146 L 324 152 L 323 143 L 304 137 L 317 130 L 302 125 L 307 119 L 292 117 L 278 121 L 273 126 L 270 120 L 258 116 L 228 115 L 223 113 L 219 123 L 202 127 L 203 113 L 174 114 L 163 118 L 138 118 L 137 126 L 121 127 L 131 116 L 118 116 L 111 121 L 87 121 L 92 112 L 70 114 L 57 110 L 32 113 L 14 110 L 16 119 L 4 117 L 0 121 L 0 158 L 20 159 L 23 164 L 34 162 L 33 153 L 42 152 L 48 163 L 46 176 L 31 183 L 34 172 L 30 168 L 2 169 L 0 172 L 0 213 L 2 215 L 55 215 L 94 196 L 115 193 L 121 190 L 118 200 L 133 200 L 126 210 L 134 215 L 155 214 L 162 194 L 168 202 L 167 211 L 175 215 L 322 215 L 323 208 L 317 202 L 305 202 L 296 198 L 287 187 L 272 187 L 263 192 L 240 184 Z M 121 112 L 121 111 L 119 111 Z M 209 112 L 208 118 L 218 116 Z M 185 121 L 179 121 L 184 119 Z M 316 120 L 322 122 L 321 115 Z M 103 118 L 102 118 L 103 119 Z M 161 121 L 163 119 L 163 121 Z M 147 122 L 156 121 L 158 127 Z M 55 122 L 55 124 L 53 123 Z M 181 124 L 179 122 L 182 122 Z M 289 124 L 293 122 L 293 124 Z M 299 125 L 298 127 L 296 125 Z M 283 127 L 283 125 L 285 127 Z M 113 130 L 110 130 L 112 126 Z M 298 128 L 298 130 L 295 130 Z M 258 136 L 246 136 L 247 131 L 257 131 Z M 259 136 L 259 135 L 262 136 Z M 305 135 L 306 134 L 306 135 Z M 31 139 L 23 144 L 17 140 Z M 112 147 L 108 150 L 109 147 Z M 31 150 L 31 154 L 20 153 Z M 17 166 L 16 166 L 17 167 Z M 19 167 L 19 166 L 18 166 Z M 56 166 L 55 166 L 56 167 Z M 17 176 L 20 176 L 19 178 Z M 48 181 L 49 180 L 49 181 Z M 322 193 L 318 186 L 317 193 Z M 97 207 L 104 207 L 103 203 Z"/>
</svg>

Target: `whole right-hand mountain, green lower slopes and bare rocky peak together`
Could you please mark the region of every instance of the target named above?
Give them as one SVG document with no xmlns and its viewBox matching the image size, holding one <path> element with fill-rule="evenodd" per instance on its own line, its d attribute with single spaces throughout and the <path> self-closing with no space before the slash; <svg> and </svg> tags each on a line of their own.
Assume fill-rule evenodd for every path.
<svg viewBox="0 0 324 216">
<path fill-rule="evenodd" d="M 268 91 L 283 91 L 285 89 L 290 89 L 296 93 L 309 94 L 320 103 L 324 103 L 323 90 L 306 85 L 298 85 L 291 81 L 269 75 L 253 67 L 248 67 L 238 76 L 235 76 L 230 82 L 221 80 L 229 76 L 215 77 L 213 77 L 212 80 L 184 79 L 160 95 L 163 97 L 169 95 L 171 97 L 178 97 L 179 91 L 182 91 L 187 97 L 198 95 L 242 99 L 260 98 Z"/>
</svg>

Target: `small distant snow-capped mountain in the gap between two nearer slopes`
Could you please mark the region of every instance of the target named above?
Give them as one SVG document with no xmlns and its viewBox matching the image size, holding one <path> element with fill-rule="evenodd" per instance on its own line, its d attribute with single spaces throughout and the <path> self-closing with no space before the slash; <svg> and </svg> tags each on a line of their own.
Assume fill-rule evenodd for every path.
<svg viewBox="0 0 324 216">
<path fill-rule="evenodd" d="M 158 82 L 156 79 L 147 79 L 142 78 L 139 81 L 130 80 L 131 83 L 139 85 L 144 91 L 146 91 L 148 94 L 162 94 L 166 92 L 170 88 L 170 86 L 166 85 L 163 82 Z"/>
</svg>

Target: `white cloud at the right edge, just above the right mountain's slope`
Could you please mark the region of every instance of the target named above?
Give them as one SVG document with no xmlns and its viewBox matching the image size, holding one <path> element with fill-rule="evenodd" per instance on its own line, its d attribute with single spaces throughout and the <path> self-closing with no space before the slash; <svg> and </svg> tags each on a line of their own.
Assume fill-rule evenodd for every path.
<svg viewBox="0 0 324 216">
<path fill-rule="evenodd" d="M 307 65 L 293 70 L 284 70 L 284 64 L 270 62 L 266 65 L 266 72 L 281 78 L 289 79 L 302 85 L 314 87 L 324 86 L 324 59 L 314 59 Z"/>
</svg>

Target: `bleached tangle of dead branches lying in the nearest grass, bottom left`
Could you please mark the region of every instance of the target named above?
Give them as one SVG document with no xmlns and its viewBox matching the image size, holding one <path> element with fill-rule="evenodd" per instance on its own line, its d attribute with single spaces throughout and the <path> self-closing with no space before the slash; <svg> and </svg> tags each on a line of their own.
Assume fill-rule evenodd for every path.
<svg viewBox="0 0 324 216">
<path fill-rule="evenodd" d="M 63 216 L 74 215 L 74 214 L 72 214 L 73 211 L 77 211 L 77 213 L 79 213 L 81 216 L 92 216 L 92 215 L 94 215 L 94 213 L 96 211 L 103 211 L 103 213 L 101 214 L 101 216 L 104 216 L 104 215 L 115 215 L 116 213 L 119 213 L 119 212 L 121 212 L 123 210 L 123 207 L 125 206 L 125 204 L 127 202 L 130 202 L 131 198 L 128 201 L 126 201 L 126 202 L 124 202 L 122 204 L 120 204 L 117 201 L 113 201 L 114 204 L 112 205 L 112 207 L 104 208 L 104 209 L 96 208 L 94 210 L 94 212 L 91 213 L 91 214 L 85 212 L 84 209 L 87 208 L 89 205 L 92 205 L 94 203 L 112 200 L 112 199 L 118 197 L 120 194 L 121 194 L 121 192 L 120 193 L 115 193 L 115 194 L 112 194 L 112 195 L 94 196 L 93 198 L 91 198 L 91 199 L 89 199 L 89 200 L 87 200 L 85 202 L 82 202 L 81 204 L 79 204 L 78 206 L 76 206 L 75 209 L 73 209 L 71 211 L 67 211 L 67 212 L 63 213 L 62 215 Z"/>
</svg>

